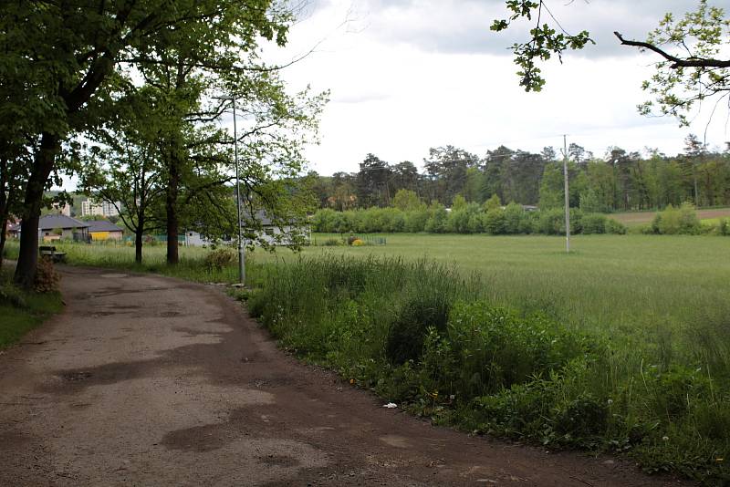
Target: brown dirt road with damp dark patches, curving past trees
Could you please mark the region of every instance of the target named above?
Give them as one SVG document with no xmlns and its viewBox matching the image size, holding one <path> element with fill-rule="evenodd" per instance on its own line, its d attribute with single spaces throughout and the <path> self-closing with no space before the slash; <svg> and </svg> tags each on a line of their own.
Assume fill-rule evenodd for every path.
<svg viewBox="0 0 730 487">
<path fill-rule="evenodd" d="M 383 409 L 213 287 L 80 268 L 63 287 L 65 313 L 0 355 L 3 486 L 678 484 Z"/>
</svg>

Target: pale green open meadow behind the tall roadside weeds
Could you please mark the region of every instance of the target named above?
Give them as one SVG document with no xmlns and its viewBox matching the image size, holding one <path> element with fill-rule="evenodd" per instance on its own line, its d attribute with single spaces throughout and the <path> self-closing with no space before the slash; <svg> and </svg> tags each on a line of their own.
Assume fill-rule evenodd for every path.
<svg viewBox="0 0 730 487">
<path fill-rule="evenodd" d="M 323 243 L 333 235 L 315 234 Z M 497 305 L 542 310 L 568 326 L 616 337 L 682 340 L 698 326 L 730 316 L 730 239 L 661 235 L 579 235 L 565 253 L 565 240 L 550 236 L 455 234 L 384 235 L 383 246 L 318 246 L 302 255 L 398 256 L 454 264 L 478 273 L 485 294 Z M 10 244 L 9 252 L 14 248 Z M 61 244 L 69 264 L 132 268 L 128 246 Z M 235 266 L 210 270 L 201 260 L 210 251 L 181 249 L 181 265 L 164 264 L 165 247 L 145 248 L 140 271 L 200 282 L 234 282 Z M 287 249 L 249 252 L 248 275 L 260 264 L 291 262 Z"/>
</svg>

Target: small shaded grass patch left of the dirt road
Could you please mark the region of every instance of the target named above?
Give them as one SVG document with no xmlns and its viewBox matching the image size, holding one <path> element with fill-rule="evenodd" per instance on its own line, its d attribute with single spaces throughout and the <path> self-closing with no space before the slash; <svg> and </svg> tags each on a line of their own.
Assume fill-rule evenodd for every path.
<svg viewBox="0 0 730 487">
<path fill-rule="evenodd" d="M 21 291 L 12 285 L 10 268 L 0 269 L 0 349 L 17 343 L 62 308 L 60 294 Z"/>
</svg>

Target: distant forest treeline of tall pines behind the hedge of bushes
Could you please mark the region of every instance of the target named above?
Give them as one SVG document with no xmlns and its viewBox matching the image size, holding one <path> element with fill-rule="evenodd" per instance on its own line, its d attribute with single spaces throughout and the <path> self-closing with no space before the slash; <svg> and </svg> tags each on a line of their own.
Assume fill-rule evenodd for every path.
<svg viewBox="0 0 730 487">
<path fill-rule="evenodd" d="M 358 172 L 310 173 L 320 208 L 344 211 L 393 206 L 399 190 L 421 202 L 451 207 L 457 195 L 483 204 L 501 202 L 563 206 L 563 161 L 556 150 L 540 153 L 500 146 L 480 158 L 453 146 L 434 148 L 418 171 L 411 161 L 391 164 L 368 154 Z M 595 157 L 577 144 L 568 147 L 569 202 L 584 212 L 662 209 L 692 202 L 697 207 L 730 205 L 730 151 L 707 150 L 694 135 L 683 153 L 658 150 L 648 156 L 612 147 Z"/>
</svg>

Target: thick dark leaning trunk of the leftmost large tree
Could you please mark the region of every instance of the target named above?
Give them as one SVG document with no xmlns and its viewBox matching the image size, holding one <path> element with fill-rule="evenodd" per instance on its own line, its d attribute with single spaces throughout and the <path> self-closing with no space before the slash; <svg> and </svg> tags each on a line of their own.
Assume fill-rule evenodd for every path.
<svg viewBox="0 0 730 487">
<path fill-rule="evenodd" d="M 55 134 L 44 132 L 40 148 L 36 152 L 33 171 L 26 185 L 26 200 L 20 223 L 20 253 L 17 258 L 15 281 L 17 285 L 30 289 L 36 280 L 38 264 L 38 221 L 40 220 L 43 192 L 48 176 L 53 170 L 60 139 Z"/>
</svg>

